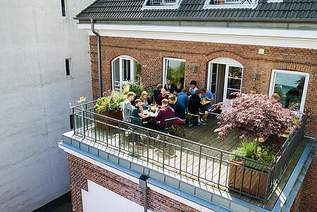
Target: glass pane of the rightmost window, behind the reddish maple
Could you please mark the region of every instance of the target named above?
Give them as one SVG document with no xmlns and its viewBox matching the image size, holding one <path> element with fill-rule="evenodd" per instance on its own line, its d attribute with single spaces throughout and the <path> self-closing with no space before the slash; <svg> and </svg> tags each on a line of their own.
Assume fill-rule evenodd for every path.
<svg viewBox="0 0 317 212">
<path fill-rule="evenodd" d="M 285 108 L 302 101 L 306 77 L 304 75 L 292 75 L 287 73 L 276 73 L 274 93 L 280 96 L 280 103 Z"/>
</svg>

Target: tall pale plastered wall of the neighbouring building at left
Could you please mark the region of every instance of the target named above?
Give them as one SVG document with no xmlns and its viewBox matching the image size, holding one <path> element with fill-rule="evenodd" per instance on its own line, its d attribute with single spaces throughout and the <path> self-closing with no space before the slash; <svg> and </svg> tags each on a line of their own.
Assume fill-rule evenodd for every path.
<svg viewBox="0 0 317 212">
<path fill-rule="evenodd" d="M 73 17 L 93 0 L 0 1 L 0 211 L 32 211 L 69 191 L 70 102 L 92 99 L 89 37 Z M 72 58 L 73 79 L 65 58 Z"/>
</svg>

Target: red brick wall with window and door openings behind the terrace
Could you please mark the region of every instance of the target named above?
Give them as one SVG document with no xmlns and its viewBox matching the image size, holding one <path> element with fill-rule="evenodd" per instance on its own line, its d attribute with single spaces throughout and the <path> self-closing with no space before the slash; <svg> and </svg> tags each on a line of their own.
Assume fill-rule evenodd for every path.
<svg viewBox="0 0 317 212">
<path fill-rule="evenodd" d="M 265 49 L 265 54 L 258 50 Z M 97 37 L 90 37 L 92 61 L 92 94 L 99 95 Z M 208 62 L 218 57 L 235 59 L 244 66 L 242 92 L 256 86 L 258 93 L 268 94 L 273 69 L 294 70 L 310 73 L 305 111 L 311 111 L 306 135 L 317 138 L 317 50 L 274 46 L 252 46 L 240 44 L 216 44 L 207 42 L 183 42 L 159 39 L 137 39 L 123 37 L 101 37 L 101 67 L 103 90 L 111 89 L 111 61 L 120 55 L 135 58 L 142 66 L 142 81 L 145 85 L 162 82 L 163 58 L 186 60 L 185 85 L 197 80 L 199 87 L 206 87 Z M 192 73 L 192 66 L 197 72 Z M 259 73 L 254 81 L 251 73 Z"/>
</svg>

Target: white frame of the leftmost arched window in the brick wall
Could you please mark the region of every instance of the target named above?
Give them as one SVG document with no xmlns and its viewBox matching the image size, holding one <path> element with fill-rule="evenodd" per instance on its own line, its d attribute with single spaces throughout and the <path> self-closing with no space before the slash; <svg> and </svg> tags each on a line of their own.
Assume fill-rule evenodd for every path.
<svg viewBox="0 0 317 212">
<path fill-rule="evenodd" d="M 119 78 L 120 78 L 120 84 L 125 82 L 123 80 L 123 60 L 128 60 L 130 61 L 130 82 L 134 82 L 135 81 L 135 63 L 134 61 L 137 61 L 135 58 L 132 58 L 130 56 L 126 56 L 126 55 L 122 55 L 122 56 L 117 56 L 116 58 L 114 58 L 112 61 L 111 61 L 111 75 L 112 75 L 112 89 L 113 90 L 118 90 L 114 87 L 114 75 L 113 75 L 113 63 L 114 61 L 116 61 L 117 59 L 119 59 Z M 137 61 L 138 62 L 138 61 Z M 139 62 L 138 62 L 139 63 Z M 122 88 L 120 87 L 120 90 Z"/>
</svg>

